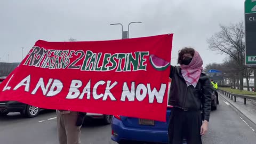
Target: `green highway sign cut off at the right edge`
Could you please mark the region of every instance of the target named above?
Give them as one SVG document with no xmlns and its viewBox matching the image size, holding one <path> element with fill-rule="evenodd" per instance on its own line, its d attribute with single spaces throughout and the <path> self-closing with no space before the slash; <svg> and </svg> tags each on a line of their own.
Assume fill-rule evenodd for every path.
<svg viewBox="0 0 256 144">
<path fill-rule="evenodd" d="M 256 0 L 246 0 L 245 13 L 245 65 L 256 66 Z"/>
</svg>

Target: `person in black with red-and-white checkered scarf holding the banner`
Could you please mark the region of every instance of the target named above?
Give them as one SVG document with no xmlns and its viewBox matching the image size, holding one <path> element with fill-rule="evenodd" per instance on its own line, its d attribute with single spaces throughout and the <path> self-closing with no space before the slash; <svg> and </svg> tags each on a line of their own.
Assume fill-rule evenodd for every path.
<svg viewBox="0 0 256 144">
<path fill-rule="evenodd" d="M 188 144 L 200 144 L 210 119 L 211 82 L 203 73 L 201 56 L 194 49 L 185 47 L 180 50 L 178 63 L 180 66 L 171 66 L 170 73 L 172 84 L 168 104 L 173 110 L 168 129 L 169 143 L 181 144 L 185 138 Z"/>
</svg>

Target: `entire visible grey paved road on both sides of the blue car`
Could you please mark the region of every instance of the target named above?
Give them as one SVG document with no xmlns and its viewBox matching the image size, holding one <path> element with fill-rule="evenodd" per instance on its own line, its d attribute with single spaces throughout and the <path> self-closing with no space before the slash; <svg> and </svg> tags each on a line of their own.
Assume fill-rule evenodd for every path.
<svg viewBox="0 0 256 144">
<path fill-rule="evenodd" d="M 220 98 L 218 110 L 211 113 L 210 130 L 203 141 L 207 144 L 254 144 L 255 130 L 255 125 Z M 82 143 L 116 144 L 110 140 L 110 135 L 110 125 L 100 122 L 88 122 L 82 127 Z M 17 113 L 0 117 L 0 143 L 57 144 L 55 113 L 47 111 L 36 118 L 22 118 Z"/>
</svg>

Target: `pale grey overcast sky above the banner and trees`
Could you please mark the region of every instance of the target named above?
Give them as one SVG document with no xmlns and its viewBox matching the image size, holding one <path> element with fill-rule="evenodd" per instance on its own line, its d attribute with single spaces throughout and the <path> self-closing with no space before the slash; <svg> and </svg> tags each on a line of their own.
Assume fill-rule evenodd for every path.
<svg viewBox="0 0 256 144">
<path fill-rule="evenodd" d="M 204 66 L 222 62 L 226 55 L 211 52 L 206 39 L 220 28 L 244 20 L 244 0 L 44 0 L 1 1 L 0 58 L 20 62 L 38 39 L 97 41 L 121 38 L 123 23 L 130 38 L 174 33 L 172 58 L 183 46 L 194 47 Z M 172 65 L 177 59 L 172 59 Z"/>
</svg>

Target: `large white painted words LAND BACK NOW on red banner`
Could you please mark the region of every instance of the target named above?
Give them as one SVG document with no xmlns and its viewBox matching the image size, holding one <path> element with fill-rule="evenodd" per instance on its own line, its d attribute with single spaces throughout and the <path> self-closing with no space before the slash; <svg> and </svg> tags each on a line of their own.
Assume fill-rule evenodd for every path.
<svg viewBox="0 0 256 144">
<path fill-rule="evenodd" d="M 253 57 L 256 61 L 256 56 Z M 10 79 L 12 79 L 13 75 L 11 76 Z M 11 90 L 12 86 L 8 86 L 9 81 L 6 83 L 3 91 L 5 90 Z M 25 86 L 24 91 L 29 92 L 31 85 L 31 76 L 28 75 L 26 78 L 22 79 L 22 81 L 17 84 L 13 90 L 19 89 L 21 86 Z M 34 82 L 33 82 L 34 83 Z M 106 85 L 105 85 L 106 84 Z M 113 89 L 118 82 L 113 82 L 111 81 L 99 81 L 95 83 L 93 86 L 92 92 L 91 92 L 91 79 L 87 82 L 86 86 L 83 87 L 82 91 L 82 85 L 83 81 L 78 80 L 78 79 L 73 79 L 71 81 L 71 84 L 69 86 L 69 91 L 66 96 L 66 99 L 83 99 L 84 95 L 87 93 L 86 99 L 91 99 L 91 95 L 94 100 L 98 100 L 102 98 L 102 101 L 106 101 L 108 98 L 110 98 L 111 101 L 116 101 L 115 95 L 111 93 L 111 89 Z M 10 84 L 9 84 L 10 85 Z M 105 85 L 103 87 L 100 87 L 100 85 Z M 44 78 L 39 78 L 37 81 L 36 85 L 33 85 L 33 91 L 31 91 L 31 94 L 36 94 L 38 90 L 41 89 L 43 95 L 46 95 L 46 97 L 53 97 L 57 94 L 59 94 L 62 89 L 63 89 L 63 83 L 59 79 L 53 79 L 49 78 L 44 79 Z M 49 90 L 50 89 L 50 90 Z M 81 90 L 79 90 L 81 89 Z M 97 91 L 104 90 L 105 92 L 103 93 L 97 93 Z M 138 84 L 135 86 L 135 82 L 131 82 L 131 85 L 128 86 L 126 82 L 123 83 L 122 87 L 122 94 L 121 94 L 121 101 L 135 101 L 135 98 L 138 101 L 143 101 L 148 95 L 149 98 L 149 103 L 153 103 L 154 99 L 156 98 L 157 103 L 163 103 L 163 98 L 166 90 L 166 84 L 161 84 L 161 87 L 159 90 L 156 89 L 156 87 L 151 87 L 150 83 L 146 84 Z M 115 90 L 117 91 L 117 90 Z"/>
</svg>

